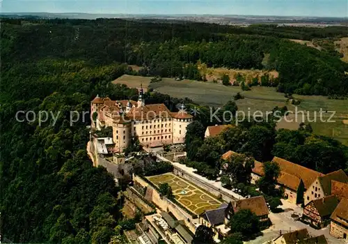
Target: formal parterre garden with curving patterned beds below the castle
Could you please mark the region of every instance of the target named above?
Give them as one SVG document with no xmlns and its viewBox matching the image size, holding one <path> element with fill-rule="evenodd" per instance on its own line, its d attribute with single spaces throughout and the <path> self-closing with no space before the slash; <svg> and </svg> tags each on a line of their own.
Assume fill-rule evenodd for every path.
<svg viewBox="0 0 348 244">
<path fill-rule="evenodd" d="M 175 199 L 187 209 L 199 215 L 209 209 L 218 208 L 222 202 L 196 185 L 185 181 L 174 174 L 160 174 L 158 176 L 150 176 L 148 180 L 159 186 L 161 183 L 171 185 Z"/>
</svg>

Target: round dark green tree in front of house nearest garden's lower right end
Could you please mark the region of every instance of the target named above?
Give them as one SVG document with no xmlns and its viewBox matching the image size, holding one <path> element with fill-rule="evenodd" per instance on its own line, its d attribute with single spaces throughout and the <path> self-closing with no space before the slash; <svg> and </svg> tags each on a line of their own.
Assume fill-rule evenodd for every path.
<svg viewBox="0 0 348 244">
<path fill-rule="evenodd" d="M 232 215 L 228 224 L 232 233 L 239 232 L 243 238 L 250 238 L 260 232 L 258 216 L 249 209 L 239 210 L 235 215 Z"/>
</svg>

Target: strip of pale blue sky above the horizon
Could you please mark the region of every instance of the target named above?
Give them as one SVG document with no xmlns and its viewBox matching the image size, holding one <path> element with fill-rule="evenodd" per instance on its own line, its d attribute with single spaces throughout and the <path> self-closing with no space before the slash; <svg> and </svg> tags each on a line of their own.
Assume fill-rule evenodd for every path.
<svg viewBox="0 0 348 244">
<path fill-rule="evenodd" d="M 0 0 L 1 12 L 348 17 L 348 0 Z"/>
</svg>

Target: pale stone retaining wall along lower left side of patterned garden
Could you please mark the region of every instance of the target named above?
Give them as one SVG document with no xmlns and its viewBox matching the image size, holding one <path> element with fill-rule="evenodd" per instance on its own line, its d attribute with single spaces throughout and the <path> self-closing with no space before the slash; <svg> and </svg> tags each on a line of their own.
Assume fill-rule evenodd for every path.
<svg viewBox="0 0 348 244">
<path fill-rule="evenodd" d="M 193 224 L 193 220 L 196 218 L 193 218 L 192 215 L 184 211 L 182 208 L 174 204 L 171 200 L 167 199 L 166 197 L 161 197 L 159 192 L 155 188 L 152 187 L 149 183 L 144 181 L 141 177 L 134 175 L 133 181 L 141 184 L 143 187 L 146 187 L 146 193 L 145 196 L 150 196 L 151 199 L 148 199 L 152 201 L 156 206 L 158 206 L 162 211 L 165 212 L 171 212 L 177 218 L 177 220 L 184 220 L 185 225 L 195 233 L 196 226 Z"/>
</svg>

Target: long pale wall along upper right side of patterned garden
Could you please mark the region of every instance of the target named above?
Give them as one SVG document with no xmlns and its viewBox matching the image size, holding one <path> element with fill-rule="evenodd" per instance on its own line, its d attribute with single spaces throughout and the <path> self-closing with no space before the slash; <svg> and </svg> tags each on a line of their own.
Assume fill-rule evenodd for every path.
<svg viewBox="0 0 348 244">
<path fill-rule="evenodd" d="M 189 182 L 192 182 L 195 185 L 198 185 L 200 188 L 205 189 L 207 192 L 212 193 L 215 197 L 222 198 L 223 201 L 235 201 L 236 199 L 232 197 L 231 195 L 228 195 L 226 192 L 223 192 L 219 190 L 219 188 L 216 188 L 214 185 L 210 185 L 207 182 L 204 182 L 200 180 L 197 176 L 194 176 L 194 174 L 189 174 L 187 171 L 184 171 L 183 169 L 180 169 L 178 167 L 174 166 L 174 171 L 173 173 L 177 176 L 180 176 L 184 179 L 186 179 Z"/>
</svg>

